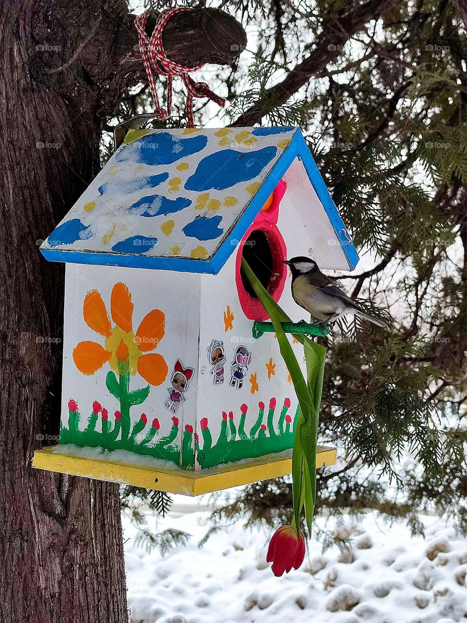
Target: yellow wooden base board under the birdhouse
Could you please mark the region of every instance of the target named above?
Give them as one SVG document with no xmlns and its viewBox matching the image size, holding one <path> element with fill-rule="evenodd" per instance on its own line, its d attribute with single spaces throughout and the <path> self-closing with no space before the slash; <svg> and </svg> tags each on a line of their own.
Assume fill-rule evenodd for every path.
<svg viewBox="0 0 467 623">
<path fill-rule="evenodd" d="M 277 478 L 291 471 L 290 456 L 269 455 L 260 459 L 252 459 L 232 465 L 222 465 L 190 472 L 174 468 L 163 469 L 147 465 L 131 465 L 111 460 L 85 459 L 83 457 L 60 454 L 57 447 L 52 446 L 36 450 L 32 466 L 50 472 L 69 473 L 75 476 L 110 480 L 126 483 L 136 487 L 158 489 L 168 493 L 183 495 L 201 495 L 220 491 L 238 485 L 247 485 L 265 478 Z M 316 467 L 333 465 L 336 462 L 336 449 L 319 445 L 316 454 Z"/>
</svg>

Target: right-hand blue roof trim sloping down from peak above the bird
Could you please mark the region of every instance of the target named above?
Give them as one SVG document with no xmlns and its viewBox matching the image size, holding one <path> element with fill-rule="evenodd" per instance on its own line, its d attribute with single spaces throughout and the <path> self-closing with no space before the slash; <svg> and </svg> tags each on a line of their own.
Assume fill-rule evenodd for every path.
<svg viewBox="0 0 467 623">
<path fill-rule="evenodd" d="M 293 141 L 296 141 L 298 156 L 304 164 L 309 181 L 313 185 L 319 201 L 323 204 L 329 221 L 336 232 L 337 239 L 341 243 L 341 249 L 346 256 L 347 264 L 349 264 L 349 268 L 351 270 L 354 270 L 359 262 L 359 255 L 357 254 L 357 250 L 352 243 L 349 233 L 347 232 L 344 221 L 342 221 L 339 216 L 339 212 L 337 212 L 337 207 L 336 204 L 334 204 L 333 197 L 329 194 L 328 187 L 324 183 L 321 173 L 319 173 L 318 167 L 316 166 L 313 156 L 311 155 L 311 151 L 308 149 L 308 145 L 306 145 L 306 141 L 304 140 L 301 131 L 297 131 L 293 135 Z M 346 244 L 343 244 L 343 240 L 346 240 Z"/>
</svg>

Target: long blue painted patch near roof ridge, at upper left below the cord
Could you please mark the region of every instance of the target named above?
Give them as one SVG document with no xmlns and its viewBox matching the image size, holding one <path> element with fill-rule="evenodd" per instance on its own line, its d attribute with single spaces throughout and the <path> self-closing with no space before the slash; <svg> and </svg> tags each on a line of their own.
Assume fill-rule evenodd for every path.
<svg viewBox="0 0 467 623">
<path fill-rule="evenodd" d="M 207 145 L 207 136 L 177 138 L 169 132 L 141 136 L 115 154 L 117 162 L 143 164 L 172 164 L 181 158 L 201 151 Z"/>
</svg>

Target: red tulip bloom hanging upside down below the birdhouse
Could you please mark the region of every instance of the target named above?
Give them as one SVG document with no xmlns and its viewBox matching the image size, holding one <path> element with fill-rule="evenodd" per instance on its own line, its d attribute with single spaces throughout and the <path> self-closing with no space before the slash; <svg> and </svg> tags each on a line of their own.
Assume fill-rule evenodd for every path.
<svg viewBox="0 0 467 623">
<path fill-rule="evenodd" d="M 298 569 L 305 557 L 305 536 L 295 526 L 281 526 L 271 538 L 266 560 L 272 563 L 272 572 L 280 578 L 290 569 Z"/>
</svg>

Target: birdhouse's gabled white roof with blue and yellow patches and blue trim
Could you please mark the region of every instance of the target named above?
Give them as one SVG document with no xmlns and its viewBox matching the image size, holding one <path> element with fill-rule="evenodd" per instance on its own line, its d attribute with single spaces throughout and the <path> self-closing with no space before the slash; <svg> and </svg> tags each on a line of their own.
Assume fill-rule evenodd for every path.
<svg viewBox="0 0 467 623">
<path fill-rule="evenodd" d="M 293 127 L 130 130 L 40 250 L 55 262 L 215 274 L 284 176 L 311 247 L 334 247 L 323 267 L 354 268 L 354 245 Z"/>
</svg>

